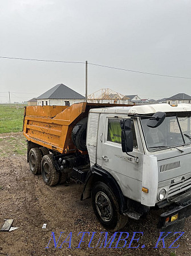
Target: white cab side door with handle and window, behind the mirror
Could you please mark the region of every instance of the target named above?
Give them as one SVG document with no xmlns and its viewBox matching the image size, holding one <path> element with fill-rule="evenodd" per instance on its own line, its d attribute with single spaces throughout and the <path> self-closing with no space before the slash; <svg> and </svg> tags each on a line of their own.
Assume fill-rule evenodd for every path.
<svg viewBox="0 0 191 256">
<path fill-rule="evenodd" d="M 141 181 L 143 153 L 140 152 L 137 144 L 135 123 L 132 120 L 133 152 L 130 153 L 132 156 L 129 156 L 121 149 L 121 119 L 124 119 L 124 117 L 116 117 L 113 114 L 100 115 L 97 137 L 97 164 L 117 179 L 122 179 L 121 182 L 123 182 L 122 176 Z M 139 163 L 135 161 L 133 156 L 139 157 Z"/>
</svg>

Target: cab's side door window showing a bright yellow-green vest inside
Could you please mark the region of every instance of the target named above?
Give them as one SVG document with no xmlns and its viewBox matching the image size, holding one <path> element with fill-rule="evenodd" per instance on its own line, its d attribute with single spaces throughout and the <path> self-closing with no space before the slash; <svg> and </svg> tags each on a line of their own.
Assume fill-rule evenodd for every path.
<svg viewBox="0 0 191 256">
<path fill-rule="evenodd" d="M 133 147 L 137 147 L 137 140 L 136 140 L 136 135 L 135 135 L 135 127 L 133 124 L 133 121 L 131 122 L 132 124 L 132 132 L 133 132 Z M 108 119 L 108 133 L 107 133 L 107 140 L 114 142 L 114 143 L 119 143 L 121 144 L 121 124 L 120 124 L 120 119 Z"/>
</svg>

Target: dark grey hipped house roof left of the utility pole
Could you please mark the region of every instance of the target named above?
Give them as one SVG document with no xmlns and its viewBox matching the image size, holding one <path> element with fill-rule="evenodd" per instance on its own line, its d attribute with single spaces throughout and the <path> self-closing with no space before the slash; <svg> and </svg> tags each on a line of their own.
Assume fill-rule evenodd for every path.
<svg viewBox="0 0 191 256">
<path fill-rule="evenodd" d="M 78 92 L 75 92 L 75 90 L 72 90 L 68 86 L 64 84 L 57 84 L 54 87 L 52 87 L 50 90 L 47 90 L 47 92 L 44 92 L 42 95 L 36 98 L 37 100 L 41 99 L 85 99 L 84 96 L 79 94 Z"/>
</svg>

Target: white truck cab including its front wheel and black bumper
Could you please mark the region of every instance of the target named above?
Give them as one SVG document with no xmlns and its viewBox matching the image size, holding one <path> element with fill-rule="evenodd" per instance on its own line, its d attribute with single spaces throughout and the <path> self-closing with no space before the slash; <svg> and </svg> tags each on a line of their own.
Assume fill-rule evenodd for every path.
<svg viewBox="0 0 191 256">
<path fill-rule="evenodd" d="M 166 207 L 162 231 L 183 229 L 191 212 L 190 116 L 190 104 L 90 110 L 82 199 L 91 196 L 104 227 L 119 230 L 128 216 L 139 219 L 157 206 Z"/>
</svg>

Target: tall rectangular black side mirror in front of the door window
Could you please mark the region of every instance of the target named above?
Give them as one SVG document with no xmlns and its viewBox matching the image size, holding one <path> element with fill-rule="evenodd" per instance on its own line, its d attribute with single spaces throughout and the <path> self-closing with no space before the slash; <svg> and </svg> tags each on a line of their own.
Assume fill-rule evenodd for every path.
<svg viewBox="0 0 191 256">
<path fill-rule="evenodd" d="M 131 130 L 131 119 L 121 120 L 121 147 L 123 152 L 133 151 L 133 132 Z"/>
</svg>

